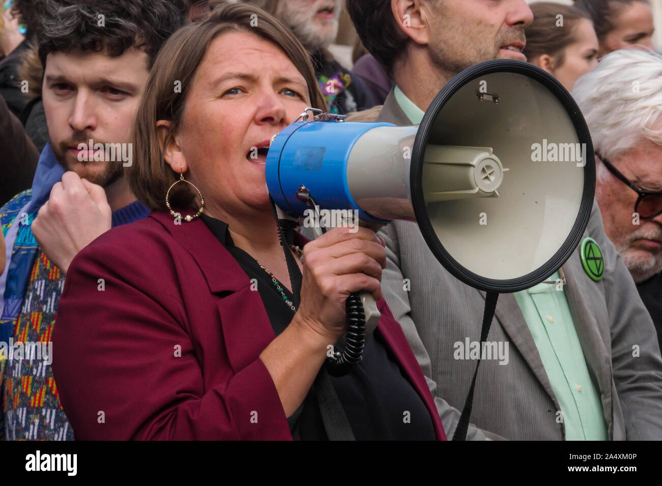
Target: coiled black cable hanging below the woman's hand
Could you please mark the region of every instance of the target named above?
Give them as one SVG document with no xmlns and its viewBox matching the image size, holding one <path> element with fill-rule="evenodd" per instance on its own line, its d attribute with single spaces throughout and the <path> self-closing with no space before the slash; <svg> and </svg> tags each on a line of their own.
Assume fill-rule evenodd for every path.
<svg viewBox="0 0 662 486">
<path fill-rule="evenodd" d="M 365 311 L 358 293 L 350 294 L 345 301 L 347 313 L 347 337 L 345 350 L 326 358 L 326 371 L 331 376 L 345 376 L 359 364 L 365 348 Z"/>
</svg>

